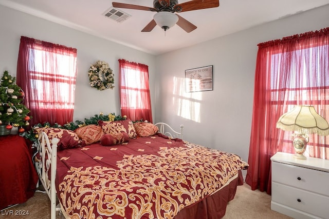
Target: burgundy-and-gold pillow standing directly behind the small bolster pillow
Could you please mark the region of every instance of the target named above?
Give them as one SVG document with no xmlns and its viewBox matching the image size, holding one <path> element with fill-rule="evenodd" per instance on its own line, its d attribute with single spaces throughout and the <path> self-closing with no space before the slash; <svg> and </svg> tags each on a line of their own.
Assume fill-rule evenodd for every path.
<svg viewBox="0 0 329 219">
<path fill-rule="evenodd" d="M 98 121 L 98 124 L 102 127 L 104 134 L 118 134 L 121 131 L 126 132 L 130 138 L 136 138 L 137 133 L 134 124 L 131 120 L 119 120 L 119 121 Z"/>
</svg>

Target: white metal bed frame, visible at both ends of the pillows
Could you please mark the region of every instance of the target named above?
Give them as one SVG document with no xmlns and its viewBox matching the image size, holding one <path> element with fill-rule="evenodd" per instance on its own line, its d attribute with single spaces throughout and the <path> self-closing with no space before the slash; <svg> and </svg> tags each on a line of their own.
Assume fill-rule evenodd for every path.
<svg viewBox="0 0 329 219">
<path fill-rule="evenodd" d="M 180 125 L 180 132 L 175 131 L 166 123 L 156 123 L 159 127 L 159 133 L 170 136 L 172 138 L 177 137 L 183 140 L 183 128 L 184 125 Z M 37 150 L 40 154 L 40 162 L 35 162 L 36 172 L 38 172 L 39 179 L 46 190 L 46 193 L 50 199 L 50 218 L 56 219 L 56 211 L 60 211 L 60 204 L 56 206 L 57 196 L 55 181 L 48 178 L 50 170 L 50 178 L 56 177 L 57 169 L 57 144 L 59 143 L 58 138 L 53 138 L 50 144 L 46 133 L 42 132 L 38 138 L 39 144 Z M 55 162 L 52 162 L 55 161 Z"/>
</svg>

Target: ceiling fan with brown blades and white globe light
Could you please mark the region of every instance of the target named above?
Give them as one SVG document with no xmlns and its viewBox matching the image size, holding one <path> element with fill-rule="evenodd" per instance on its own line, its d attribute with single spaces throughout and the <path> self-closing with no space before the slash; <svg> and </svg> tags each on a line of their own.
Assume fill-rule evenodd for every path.
<svg viewBox="0 0 329 219">
<path fill-rule="evenodd" d="M 126 8 L 126 9 L 136 9 L 144 11 L 157 12 L 152 21 L 142 29 L 141 32 L 150 32 L 156 25 L 159 25 L 163 30 L 168 30 L 176 23 L 177 25 L 185 30 L 186 32 L 191 32 L 196 29 L 196 26 L 187 21 L 185 18 L 179 16 L 176 13 L 193 11 L 206 8 L 215 8 L 220 6 L 219 0 L 192 0 L 189 2 L 178 4 L 178 0 L 153 0 L 153 8 L 131 5 L 125 3 L 113 2 L 112 6 L 115 8 Z"/>
</svg>

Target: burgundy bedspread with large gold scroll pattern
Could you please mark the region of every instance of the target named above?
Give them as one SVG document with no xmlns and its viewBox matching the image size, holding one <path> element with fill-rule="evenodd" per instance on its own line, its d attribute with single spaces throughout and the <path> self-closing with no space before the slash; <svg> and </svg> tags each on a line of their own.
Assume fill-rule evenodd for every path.
<svg viewBox="0 0 329 219">
<path fill-rule="evenodd" d="M 71 218 L 174 218 L 248 166 L 235 154 L 161 134 L 57 158 L 58 197 Z"/>
</svg>

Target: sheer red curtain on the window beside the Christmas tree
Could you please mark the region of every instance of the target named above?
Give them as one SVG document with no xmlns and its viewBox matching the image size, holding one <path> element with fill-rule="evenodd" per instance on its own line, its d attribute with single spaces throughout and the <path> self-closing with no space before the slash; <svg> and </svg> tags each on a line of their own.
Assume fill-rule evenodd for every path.
<svg viewBox="0 0 329 219">
<path fill-rule="evenodd" d="M 77 49 L 22 36 L 17 85 L 25 92 L 30 125 L 73 120 Z"/>
</svg>

